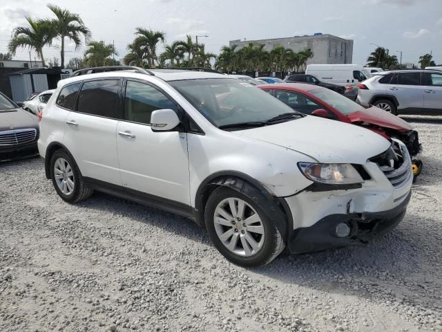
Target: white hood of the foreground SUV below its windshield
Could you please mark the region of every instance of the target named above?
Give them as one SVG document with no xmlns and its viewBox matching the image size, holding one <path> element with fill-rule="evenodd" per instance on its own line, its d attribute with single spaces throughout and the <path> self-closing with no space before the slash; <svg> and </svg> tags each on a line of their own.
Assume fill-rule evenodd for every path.
<svg viewBox="0 0 442 332">
<path fill-rule="evenodd" d="M 316 116 L 232 133 L 298 151 L 320 163 L 365 164 L 390 147 L 373 131 Z"/>
</svg>

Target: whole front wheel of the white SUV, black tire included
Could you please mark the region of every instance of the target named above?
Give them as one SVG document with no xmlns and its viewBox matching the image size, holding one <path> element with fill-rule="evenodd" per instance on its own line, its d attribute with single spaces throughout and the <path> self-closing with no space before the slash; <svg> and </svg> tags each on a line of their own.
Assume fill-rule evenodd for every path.
<svg viewBox="0 0 442 332">
<path fill-rule="evenodd" d="M 235 212 L 230 208 L 231 202 Z M 285 248 L 278 228 L 265 211 L 253 199 L 231 188 L 219 187 L 212 192 L 206 203 L 204 219 L 213 245 L 233 264 L 245 268 L 264 266 Z"/>
</svg>

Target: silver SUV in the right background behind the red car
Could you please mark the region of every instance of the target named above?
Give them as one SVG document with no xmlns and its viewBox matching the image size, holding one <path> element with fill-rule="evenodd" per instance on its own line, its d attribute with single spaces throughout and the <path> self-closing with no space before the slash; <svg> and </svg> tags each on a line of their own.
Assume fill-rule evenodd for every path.
<svg viewBox="0 0 442 332">
<path fill-rule="evenodd" d="M 442 115 L 442 72 L 384 71 L 358 84 L 357 101 L 393 114 Z"/>
</svg>

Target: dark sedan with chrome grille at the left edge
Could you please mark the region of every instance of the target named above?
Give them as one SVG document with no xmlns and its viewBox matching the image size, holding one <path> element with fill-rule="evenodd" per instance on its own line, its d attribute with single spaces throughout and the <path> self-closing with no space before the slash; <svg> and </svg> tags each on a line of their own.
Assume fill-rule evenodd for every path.
<svg viewBox="0 0 442 332">
<path fill-rule="evenodd" d="M 37 117 L 0 93 L 0 161 L 37 156 Z"/>
</svg>

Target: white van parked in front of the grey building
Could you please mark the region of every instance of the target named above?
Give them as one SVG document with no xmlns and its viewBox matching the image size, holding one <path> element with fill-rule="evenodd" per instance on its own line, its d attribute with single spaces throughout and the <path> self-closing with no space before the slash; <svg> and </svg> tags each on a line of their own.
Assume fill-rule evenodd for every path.
<svg viewBox="0 0 442 332">
<path fill-rule="evenodd" d="M 371 77 L 370 73 L 359 64 L 309 64 L 305 73 L 314 75 L 323 82 L 341 86 L 358 84 Z"/>
</svg>

